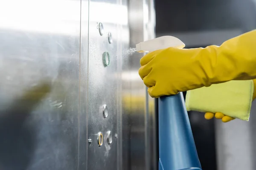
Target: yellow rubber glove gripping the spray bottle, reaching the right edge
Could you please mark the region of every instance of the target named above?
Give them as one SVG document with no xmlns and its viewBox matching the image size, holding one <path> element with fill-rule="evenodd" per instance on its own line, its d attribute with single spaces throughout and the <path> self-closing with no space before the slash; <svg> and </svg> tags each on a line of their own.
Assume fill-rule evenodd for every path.
<svg viewBox="0 0 256 170">
<path fill-rule="evenodd" d="M 166 48 L 141 58 L 140 77 L 152 97 L 174 95 L 203 86 L 256 78 L 256 31 L 221 46 Z"/>
</svg>

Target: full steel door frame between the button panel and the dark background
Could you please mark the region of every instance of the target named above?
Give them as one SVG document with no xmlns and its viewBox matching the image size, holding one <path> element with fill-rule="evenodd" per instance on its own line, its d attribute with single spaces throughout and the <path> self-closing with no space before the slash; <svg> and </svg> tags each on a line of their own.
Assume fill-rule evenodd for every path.
<svg viewBox="0 0 256 170">
<path fill-rule="evenodd" d="M 138 42 L 154 38 L 152 9 L 154 9 L 153 1 L 129 0 L 128 23 L 131 48 Z M 126 65 L 127 74 L 122 74 L 123 97 L 125 97 L 122 103 L 123 170 L 157 168 L 154 99 L 148 98 L 147 89 L 138 75 L 142 56 L 142 54 L 130 53 Z"/>
</svg>

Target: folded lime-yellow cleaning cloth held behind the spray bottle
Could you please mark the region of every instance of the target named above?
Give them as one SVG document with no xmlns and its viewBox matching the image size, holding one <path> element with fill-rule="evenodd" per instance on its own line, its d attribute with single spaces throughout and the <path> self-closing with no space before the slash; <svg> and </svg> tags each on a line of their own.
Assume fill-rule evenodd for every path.
<svg viewBox="0 0 256 170">
<path fill-rule="evenodd" d="M 249 120 L 253 100 L 253 80 L 233 80 L 187 91 L 187 111 L 221 112 Z"/>
</svg>

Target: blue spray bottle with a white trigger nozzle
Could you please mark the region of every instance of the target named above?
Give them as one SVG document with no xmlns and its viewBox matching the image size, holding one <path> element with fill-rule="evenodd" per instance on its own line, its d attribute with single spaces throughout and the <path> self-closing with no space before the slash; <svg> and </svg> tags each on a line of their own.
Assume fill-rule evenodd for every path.
<svg viewBox="0 0 256 170">
<path fill-rule="evenodd" d="M 140 42 L 137 52 L 150 52 L 168 47 L 184 48 L 172 36 Z M 182 93 L 158 99 L 159 170 L 201 170 L 189 117 Z"/>
</svg>

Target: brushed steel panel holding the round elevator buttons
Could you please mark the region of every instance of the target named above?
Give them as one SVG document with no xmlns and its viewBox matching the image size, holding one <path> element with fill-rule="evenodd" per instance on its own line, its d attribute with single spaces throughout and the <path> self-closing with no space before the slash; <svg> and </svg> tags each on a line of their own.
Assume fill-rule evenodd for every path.
<svg viewBox="0 0 256 170">
<path fill-rule="evenodd" d="M 88 139 L 92 143 L 88 147 L 88 170 L 116 170 L 119 162 L 117 139 L 122 138 L 117 127 L 118 114 L 121 114 L 119 61 L 122 53 L 119 44 L 128 41 L 127 32 L 123 32 L 122 39 L 118 39 L 121 24 L 128 24 L 126 6 L 116 0 L 90 0 Z M 112 35 L 111 43 L 108 33 Z M 107 117 L 102 113 L 103 105 L 107 105 Z M 111 144 L 108 144 L 108 131 L 112 134 Z M 98 144 L 99 133 L 103 135 L 102 146 Z"/>
</svg>

